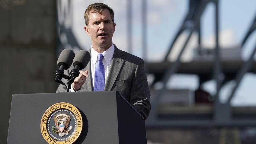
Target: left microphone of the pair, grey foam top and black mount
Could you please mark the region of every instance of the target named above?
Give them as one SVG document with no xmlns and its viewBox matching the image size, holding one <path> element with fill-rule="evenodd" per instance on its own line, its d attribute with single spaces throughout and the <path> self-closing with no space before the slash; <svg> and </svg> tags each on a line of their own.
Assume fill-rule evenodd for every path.
<svg viewBox="0 0 256 144">
<path fill-rule="evenodd" d="M 65 85 L 60 79 L 64 77 L 64 70 L 68 69 L 72 65 L 74 57 L 75 53 L 71 49 L 64 49 L 61 51 L 57 61 L 59 69 L 55 71 L 55 82 Z"/>
</svg>

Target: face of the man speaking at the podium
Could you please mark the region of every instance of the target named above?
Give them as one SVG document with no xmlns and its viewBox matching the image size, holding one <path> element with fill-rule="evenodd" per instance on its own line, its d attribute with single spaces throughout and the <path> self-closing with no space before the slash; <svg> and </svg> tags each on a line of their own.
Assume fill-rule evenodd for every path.
<svg viewBox="0 0 256 144">
<path fill-rule="evenodd" d="M 92 46 L 108 49 L 112 45 L 112 37 L 116 27 L 110 17 L 110 12 L 108 9 L 104 9 L 102 14 L 90 12 L 89 16 L 88 26 L 84 28 L 91 37 Z"/>
</svg>

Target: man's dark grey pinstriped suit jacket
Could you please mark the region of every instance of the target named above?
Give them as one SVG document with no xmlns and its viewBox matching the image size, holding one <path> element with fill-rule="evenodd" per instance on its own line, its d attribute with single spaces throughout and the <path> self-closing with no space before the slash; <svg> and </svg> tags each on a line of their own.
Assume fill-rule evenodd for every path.
<svg viewBox="0 0 256 144">
<path fill-rule="evenodd" d="M 88 52 L 91 54 L 91 50 L 88 50 Z M 73 69 L 73 66 L 65 70 L 65 74 L 70 76 L 71 69 Z M 91 62 L 88 62 L 85 69 L 82 69 L 82 71 L 85 70 L 88 70 L 89 77 L 86 78 L 85 84 L 82 85 L 80 91 L 93 91 Z M 62 81 L 65 84 L 68 82 L 64 78 L 62 78 Z M 119 91 L 142 114 L 144 119 L 147 119 L 150 112 L 150 91 L 144 70 L 144 61 L 141 58 L 119 50 L 115 46 L 104 91 Z M 66 87 L 59 85 L 56 92 L 66 92 Z"/>
</svg>

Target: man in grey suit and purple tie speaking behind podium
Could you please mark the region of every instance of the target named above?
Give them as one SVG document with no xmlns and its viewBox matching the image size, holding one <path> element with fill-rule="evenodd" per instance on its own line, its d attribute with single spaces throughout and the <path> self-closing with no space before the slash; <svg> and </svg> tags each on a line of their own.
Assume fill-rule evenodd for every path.
<svg viewBox="0 0 256 144">
<path fill-rule="evenodd" d="M 129 53 L 121 51 L 112 42 L 115 31 L 114 11 L 103 3 L 89 5 L 85 11 L 85 32 L 91 37 L 91 60 L 85 69 L 80 71 L 72 83 L 71 92 L 98 91 L 97 60 L 104 65 L 103 88 L 99 91 L 119 91 L 136 110 L 147 119 L 150 112 L 150 92 L 144 70 L 144 61 Z M 72 67 L 70 69 L 73 69 Z M 70 75 L 69 70 L 65 71 Z M 95 76 L 95 77 L 94 77 Z M 66 81 L 67 82 L 67 81 Z M 66 92 L 60 85 L 57 92 Z"/>
</svg>

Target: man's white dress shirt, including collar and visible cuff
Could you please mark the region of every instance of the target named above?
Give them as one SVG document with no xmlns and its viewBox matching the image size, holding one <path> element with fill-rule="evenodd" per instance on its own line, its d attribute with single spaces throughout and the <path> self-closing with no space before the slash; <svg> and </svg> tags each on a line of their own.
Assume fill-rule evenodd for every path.
<svg viewBox="0 0 256 144">
<path fill-rule="evenodd" d="M 104 71 L 105 71 L 105 85 L 107 81 L 108 72 L 110 70 L 112 58 L 114 55 L 114 51 L 115 51 L 115 47 L 114 47 L 114 44 L 112 43 L 112 46 L 102 53 L 102 55 L 104 56 L 104 58 L 102 59 L 102 63 L 104 65 Z M 91 46 L 91 75 L 89 76 L 91 76 L 93 88 L 94 88 L 94 70 L 95 70 L 95 64 L 97 62 L 98 54 L 99 53 L 95 51 Z M 75 92 L 72 86 L 71 86 L 70 92 Z"/>
</svg>

